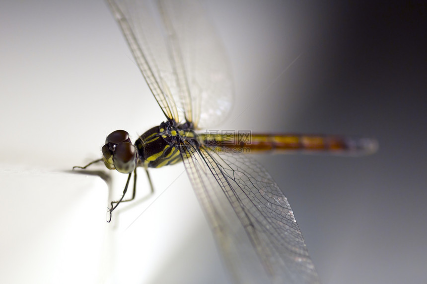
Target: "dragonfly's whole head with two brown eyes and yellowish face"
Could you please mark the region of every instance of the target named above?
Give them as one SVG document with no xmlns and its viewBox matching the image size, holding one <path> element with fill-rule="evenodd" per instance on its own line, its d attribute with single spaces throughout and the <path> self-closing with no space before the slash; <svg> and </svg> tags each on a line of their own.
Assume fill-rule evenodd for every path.
<svg viewBox="0 0 427 284">
<path fill-rule="evenodd" d="M 116 169 L 123 174 L 131 173 L 137 166 L 135 147 L 125 130 L 116 130 L 107 136 L 102 146 L 102 156 L 108 169 Z"/>
</svg>

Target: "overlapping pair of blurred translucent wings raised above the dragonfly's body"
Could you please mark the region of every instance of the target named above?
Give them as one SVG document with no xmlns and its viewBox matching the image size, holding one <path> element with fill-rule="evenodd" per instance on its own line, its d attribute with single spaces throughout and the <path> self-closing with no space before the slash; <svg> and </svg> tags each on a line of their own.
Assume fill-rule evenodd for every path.
<svg viewBox="0 0 427 284">
<path fill-rule="evenodd" d="M 179 121 L 179 114 L 200 127 L 225 119 L 233 99 L 231 71 L 200 4 L 188 0 L 108 2 L 165 115 Z"/>
</svg>

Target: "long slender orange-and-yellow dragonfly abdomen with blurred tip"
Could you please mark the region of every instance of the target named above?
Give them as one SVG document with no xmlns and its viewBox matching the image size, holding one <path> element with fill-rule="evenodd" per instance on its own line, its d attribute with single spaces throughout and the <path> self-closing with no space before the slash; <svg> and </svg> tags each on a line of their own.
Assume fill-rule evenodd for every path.
<svg viewBox="0 0 427 284">
<path fill-rule="evenodd" d="M 377 143 L 369 138 L 302 134 L 201 134 L 207 147 L 221 152 L 238 153 L 333 153 L 369 154 Z"/>
</svg>

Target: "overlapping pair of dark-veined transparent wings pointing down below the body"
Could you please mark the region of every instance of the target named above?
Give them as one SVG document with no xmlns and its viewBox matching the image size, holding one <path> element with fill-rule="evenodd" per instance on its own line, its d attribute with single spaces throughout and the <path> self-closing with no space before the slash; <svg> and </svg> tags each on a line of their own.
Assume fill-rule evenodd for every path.
<svg viewBox="0 0 427 284">
<path fill-rule="evenodd" d="M 191 152 L 186 170 L 233 277 L 319 283 L 292 209 L 266 170 L 244 155 Z"/>
</svg>

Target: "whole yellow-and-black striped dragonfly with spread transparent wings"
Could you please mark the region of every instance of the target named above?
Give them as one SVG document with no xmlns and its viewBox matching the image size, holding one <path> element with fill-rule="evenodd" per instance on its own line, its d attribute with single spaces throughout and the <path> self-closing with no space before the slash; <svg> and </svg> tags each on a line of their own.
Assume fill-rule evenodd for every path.
<svg viewBox="0 0 427 284">
<path fill-rule="evenodd" d="M 251 153 L 369 154 L 369 138 L 332 135 L 202 132 L 231 111 L 233 81 L 224 48 L 199 2 L 108 0 L 165 121 L 132 143 L 116 130 L 102 147 L 110 170 L 128 175 L 121 202 L 136 196 L 137 168 L 182 163 L 236 283 L 319 283 L 282 190 Z M 132 176 L 132 197 L 125 194 Z M 249 256 L 249 257 L 248 257 Z"/>
</svg>

